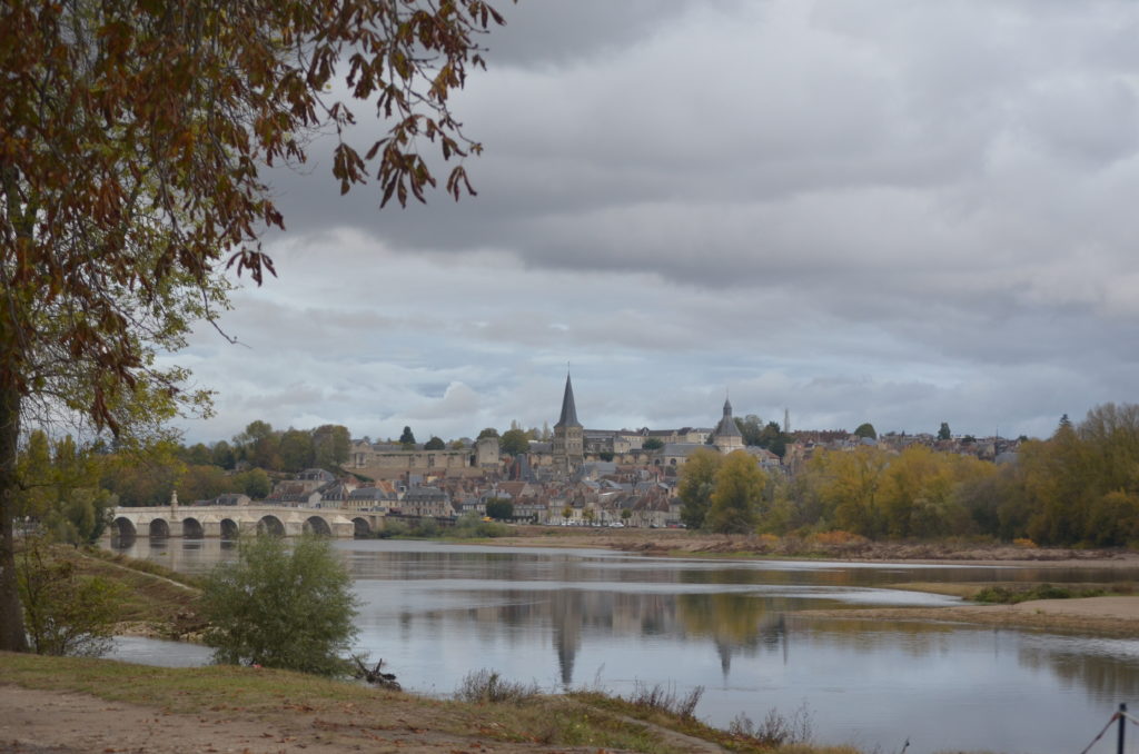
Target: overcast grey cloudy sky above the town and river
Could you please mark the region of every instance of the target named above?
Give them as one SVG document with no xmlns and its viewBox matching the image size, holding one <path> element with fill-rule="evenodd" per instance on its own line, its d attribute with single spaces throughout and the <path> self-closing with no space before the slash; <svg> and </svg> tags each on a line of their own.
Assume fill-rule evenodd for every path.
<svg viewBox="0 0 1139 754">
<path fill-rule="evenodd" d="M 343 424 L 1048 436 L 1137 400 L 1139 5 L 521 0 L 453 108 L 478 191 L 269 175 L 279 277 L 171 359 L 188 442 Z M 366 107 L 358 108 L 368 121 Z M 350 138 L 363 149 L 383 123 Z"/>
</svg>

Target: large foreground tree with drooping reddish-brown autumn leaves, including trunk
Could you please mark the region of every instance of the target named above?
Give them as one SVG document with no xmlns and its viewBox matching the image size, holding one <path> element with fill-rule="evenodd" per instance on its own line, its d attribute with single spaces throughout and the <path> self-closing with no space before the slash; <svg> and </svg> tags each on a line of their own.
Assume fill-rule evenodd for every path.
<svg viewBox="0 0 1139 754">
<path fill-rule="evenodd" d="M 341 192 L 473 192 L 480 146 L 449 95 L 501 17 L 482 0 L 7 0 L 0 6 L 0 649 L 25 648 L 13 500 L 22 426 L 130 434 L 203 399 L 159 369 L 226 305 L 227 269 L 273 273 L 267 166 L 336 140 Z M 336 93 L 343 92 L 343 96 Z M 345 141 L 352 107 L 382 138 Z"/>
</svg>

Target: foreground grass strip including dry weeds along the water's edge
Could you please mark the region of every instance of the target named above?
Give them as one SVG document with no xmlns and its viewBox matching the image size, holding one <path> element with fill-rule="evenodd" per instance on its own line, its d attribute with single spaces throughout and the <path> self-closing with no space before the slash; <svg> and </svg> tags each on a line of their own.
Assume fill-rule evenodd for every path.
<svg viewBox="0 0 1139 754">
<path fill-rule="evenodd" d="M 439 751 L 476 751 L 485 748 L 481 741 L 503 741 L 681 754 L 702 746 L 687 738 L 691 737 L 748 754 L 857 754 L 851 747 L 790 744 L 794 737 L 781 744 L 764 740 L 759 731 L 770 729 L 767 723 L 753 726 L 751 732 L 743 724 L 732 731 L 712 728 L 691 716 L 693 692 L 677 695 L 654 687 L 641 688 L 631 698 L 599 691 L 558 696 L 536 692 L 533 686 L 511 685 L 492 671 L 473 677 L 477 700 L 444 700 L 268 669 L 165 669 L 0 653 L 5 683 L 79 691 L 156 712 L 191 714 L 203 722 L 253 721 L 295 736 L 300 744 L 335 743 L 345 751 L 369 748 L 377 731 L 390 731 L 416 736 Z M 521 690 L 502 694 L 515 686 Z M 487 690 L 493 692 L 483 692 Z M 775 719 L 780 720 L 778 715 Z M 203 735 L 208 736 L 207 726 L 203 726 Z M 195 744 L 187 741 L 187 747 Z M 203 746 L 206 744 L 208 740 Z"/>
</svg>

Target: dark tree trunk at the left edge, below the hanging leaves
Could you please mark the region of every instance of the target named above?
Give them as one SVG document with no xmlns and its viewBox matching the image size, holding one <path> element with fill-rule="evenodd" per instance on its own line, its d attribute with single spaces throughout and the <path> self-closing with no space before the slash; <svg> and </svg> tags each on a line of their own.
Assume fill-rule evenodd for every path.
<svg viewBox="0 0 1139 754">
<path fill-rule="evenodd" d="M 19 443 L 19 393 L 0 392 L 0 650 L 27 651 L 24 610 L 16 583 L 13 527 L 16 510 L 16 450 Z"/>
</svg>

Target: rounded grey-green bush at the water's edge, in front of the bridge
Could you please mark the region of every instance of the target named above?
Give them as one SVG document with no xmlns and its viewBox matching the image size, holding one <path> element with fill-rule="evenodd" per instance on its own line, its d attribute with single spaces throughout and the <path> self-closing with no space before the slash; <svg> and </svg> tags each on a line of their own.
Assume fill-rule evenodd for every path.
<svg viewBox="0 0 1139 754">
<path fill-rule="evenodd" d="M 231 665 L 336 675 L 357 634 L 352 579 L 328 540 L 244 539 L 202 595 L 205 644 Z"/>
</svg>

